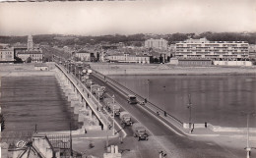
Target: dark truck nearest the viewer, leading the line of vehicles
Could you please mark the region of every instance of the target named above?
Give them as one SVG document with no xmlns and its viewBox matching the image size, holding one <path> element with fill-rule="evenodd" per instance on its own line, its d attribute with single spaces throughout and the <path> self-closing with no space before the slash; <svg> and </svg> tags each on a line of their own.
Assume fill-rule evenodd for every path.
<svg viewBox="0 0 256 158">
<path fill-rule="evenodd" d="M 140 123 L 134 123 L 132 126 L 133 136 L 138 137 L 138 141 L 145 139 L 148 140 L 149 134 L 147 129 Z"/>
</svg>

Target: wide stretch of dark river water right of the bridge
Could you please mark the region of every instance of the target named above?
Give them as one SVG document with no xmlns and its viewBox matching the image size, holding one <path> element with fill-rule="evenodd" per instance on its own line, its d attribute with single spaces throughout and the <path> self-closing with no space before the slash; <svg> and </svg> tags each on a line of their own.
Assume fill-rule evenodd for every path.
<svg viewBox="0 0 256 158">
<path fill-rule="evenodd" d="M 192 123 L 246 127 L 241 112 L 256 112 L 256 76 L 111 76 L 136 93 L 188 123 L 191 95 Z M 256 117 L 250 118 L 256 128 Z"/>
</svg>

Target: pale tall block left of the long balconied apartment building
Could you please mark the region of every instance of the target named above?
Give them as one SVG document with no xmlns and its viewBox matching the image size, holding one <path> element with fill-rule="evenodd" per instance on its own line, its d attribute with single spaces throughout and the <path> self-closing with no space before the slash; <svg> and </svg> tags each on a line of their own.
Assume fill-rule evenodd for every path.
<svg viewBox="0 0 256 158">
<path fill-rule="evenodd" d="M 167 40 L 165 39 L 148 39 L 145 41 L 145 47 L 146 48 L 157 48 L 161 50 L 166 50 L 167 49 Z"/>
</svg>

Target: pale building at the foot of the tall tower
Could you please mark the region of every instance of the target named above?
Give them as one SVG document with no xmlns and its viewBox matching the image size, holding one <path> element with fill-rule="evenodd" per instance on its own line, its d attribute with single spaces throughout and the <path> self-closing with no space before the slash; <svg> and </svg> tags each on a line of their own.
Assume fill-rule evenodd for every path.
<svg viewBox="0 0 256 158">
<path fill-rule="evenodd" d="M 16 51 L 16 56 L 21 58 L 24 62 L 26 62 L 30 57 L 32 58 L 32 63 L 42 63 L 42 53 L 37 50 L 20 50 Z"/>
</svg>

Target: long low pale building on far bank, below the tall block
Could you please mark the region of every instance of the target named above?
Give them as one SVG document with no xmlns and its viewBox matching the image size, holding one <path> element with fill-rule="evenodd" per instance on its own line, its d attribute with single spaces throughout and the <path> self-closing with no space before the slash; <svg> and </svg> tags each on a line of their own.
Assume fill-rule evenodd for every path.
<svg viewBox="0 0 256 158">
<path fill-rule="evenodd" d="M 118 63 L 142 63 L 142 64 L 150 63 L 150 56 L 148 55 L 117 54 L 117 55 L 109 55 L 106 58 L 110 62 L 118 62 Z"/>
</svg>

